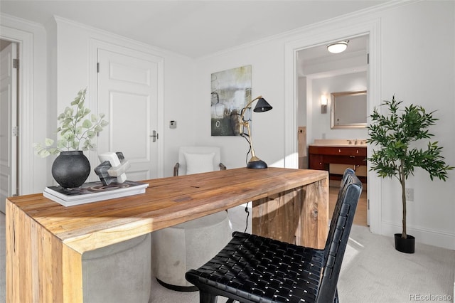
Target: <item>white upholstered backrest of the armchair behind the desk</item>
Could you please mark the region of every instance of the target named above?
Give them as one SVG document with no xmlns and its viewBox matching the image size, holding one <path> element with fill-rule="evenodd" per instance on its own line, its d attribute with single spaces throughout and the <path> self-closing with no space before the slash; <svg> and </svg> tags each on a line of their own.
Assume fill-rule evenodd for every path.
<svg viewBox="0 0 455 303">
<path fill-rule="evenodd" d="M 180 147 L 178 176 L 220 169 L 220 147 Z"/>
</svg>

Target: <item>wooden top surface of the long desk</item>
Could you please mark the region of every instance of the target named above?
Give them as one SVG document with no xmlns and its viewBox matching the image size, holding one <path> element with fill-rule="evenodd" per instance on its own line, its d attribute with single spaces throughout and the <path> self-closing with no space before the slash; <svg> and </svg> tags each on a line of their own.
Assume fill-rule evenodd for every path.
<svg viewBox="0 0 455 303">
<path fill-rule="evenodd" d="M 327 178 L 316 170 L 228 169 L 147 180 L 146 193 L 78 206 L 61 206 L 42 193 L 6 203 L 82 254 Z"/>
</svg>

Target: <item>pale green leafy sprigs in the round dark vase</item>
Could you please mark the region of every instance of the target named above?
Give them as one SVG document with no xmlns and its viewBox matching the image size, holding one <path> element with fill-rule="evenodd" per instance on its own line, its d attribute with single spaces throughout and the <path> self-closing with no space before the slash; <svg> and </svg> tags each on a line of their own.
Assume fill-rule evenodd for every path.
<svg viewBox="0 0 455 303">
<path fill-rule="evenodd" d="M 59 127 L 57 129 L 58 140 L 54 144 L 53 139 L 45 138 L 44 144 L 34 144 L 36 154 L 41 157 L 50 154 L 59 154 L 65 150 L 95 150 L 96 144 L 92 143 L 98 132 L 106 127 L 108 122 L 103 118 L 104 114 L 91 114 L 90 119 L 87 117 L 90 110 L 85 108 L 85 93 L 87 88 L 77 92 L 77 96 L 71 102 L 71 107 L 65 107 L 65 110 L 58 115 L 57 120 Z"/>
</svg>

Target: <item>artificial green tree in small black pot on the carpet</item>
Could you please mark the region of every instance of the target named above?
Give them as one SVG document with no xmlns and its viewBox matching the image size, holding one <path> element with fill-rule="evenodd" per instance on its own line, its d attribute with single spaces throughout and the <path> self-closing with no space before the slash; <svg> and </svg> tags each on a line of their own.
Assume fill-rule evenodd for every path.
<svg viewBox="0 0 455 303">
<path fill-rule="evenodd" d="M 414 175 L 414 168 L 428 171 L 429 178 L 446 181 L 447 171 L 454 169 L 445 163 L 441 156 L 442 147 L 438 142 L 428 142 L 427 149 L 419 149 L 418 142 L 433 136 L 429 127 L 436 124 L 434 112 L 426 112 L 422 106 L 410 105 L 400 110 L 402 101 L 384 101 L 382 106 L 387 112 L 381 114 L 378 108 L 370 116 L 367 126 L 367 143 L 373 144 L 373 154 L 368 157 L 370 170 L 376 171 L 382 178 L 395 177 L 402 188 L 402 233 L 395 234 L 395 249 L 413 253 L 414 240 L 406 230 L 406 180 Z"/>
</svg>

